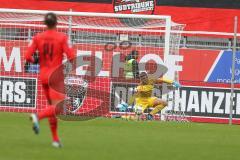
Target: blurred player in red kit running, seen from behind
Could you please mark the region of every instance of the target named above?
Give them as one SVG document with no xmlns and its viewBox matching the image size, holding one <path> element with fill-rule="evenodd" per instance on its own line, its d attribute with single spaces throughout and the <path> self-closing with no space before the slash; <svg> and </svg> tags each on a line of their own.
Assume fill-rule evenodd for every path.
<svg viewBox="0 0 240 160">
<path fill-rule="evenodd" d="M 62 65 L 64 53 L 68 59 L 75 57 L 72 48 L 68 45 L 68 37 L 56 30 L 57 16 L 54 13 L 47 13 L 44 17 L 44 23 L 47 26 L 46 31 L 37 34 L 33 37 L 25 59 L 27 62 L 34 63 L 37 61 L 33 57 L 35 51 L 39 52 L 40 63 L 40 79 L 42 87 L 48 100 L 48 106 L 37 114 L 31 114 L 30 119 L 33 123 L 33 130 L 36 134 L 39 133 L 39 121 L 48 118 L 52 133 L 52 145 L 60 148 L 62 146 L 57 133 L 57 118 L 56 115 L 62 111 L 64 93 L 64 75 L 63 70 L 58 69 L 58 76 L 55 79 L 50 79 L 51 74 Z M 53 89 L 54 88 L 54 89 Z M 56 91 L 56 88 L 58 91 Z"/>
</svg>

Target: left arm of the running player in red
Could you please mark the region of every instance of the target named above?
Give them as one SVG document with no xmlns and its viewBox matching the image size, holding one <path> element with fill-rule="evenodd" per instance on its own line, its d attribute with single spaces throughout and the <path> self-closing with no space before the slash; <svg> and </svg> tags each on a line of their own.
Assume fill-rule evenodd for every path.
<svg viewBox="0 0 240 160">
<path fill-rule="evenodd" d="M 30 63 L 37 63 L 38 57 L 33 56 L 37 50 L 37 40 L 36 37 L 30 42 L 27 52 L 25 53 L 25 60 Z"/>
</svg>

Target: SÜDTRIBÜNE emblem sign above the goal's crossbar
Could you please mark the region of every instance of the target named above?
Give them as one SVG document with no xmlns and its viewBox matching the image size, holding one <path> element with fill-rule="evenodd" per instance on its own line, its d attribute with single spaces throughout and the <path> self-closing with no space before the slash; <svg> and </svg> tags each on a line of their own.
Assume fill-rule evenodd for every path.
<svg viewBox="0 0 240 160">
<path fill-rule="evenodd" d="M 155 0 L 114 0 L 115 13 L 153 14 Z"/>
</svg>

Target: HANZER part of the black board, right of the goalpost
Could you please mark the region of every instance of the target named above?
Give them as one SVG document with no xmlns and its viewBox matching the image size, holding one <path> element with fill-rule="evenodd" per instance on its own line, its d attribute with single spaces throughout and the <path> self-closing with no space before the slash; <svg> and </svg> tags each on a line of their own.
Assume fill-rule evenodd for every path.
<svg viewBox="0 0 240 160">
<path fill-rule="evenodd" d="M 229 117 L 231 89 L 185 86 L 176 91 L 174 105 L 168 109 L 184 111 L 190 116 Z M 233 117 L 240 117 L 240 90 L 234 92 Z"/>
</svg>

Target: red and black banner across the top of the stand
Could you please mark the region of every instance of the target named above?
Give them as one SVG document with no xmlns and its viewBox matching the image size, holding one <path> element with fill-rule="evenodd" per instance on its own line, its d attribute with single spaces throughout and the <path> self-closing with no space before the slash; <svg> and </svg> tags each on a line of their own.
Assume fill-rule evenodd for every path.
<svg viewBox="0 0 240 160">
<path fill-rule="evenodd" d="M 184 0 L 183 0 L 184 1 Z M 91 2 L 91 3 L 90 3 Z M 0 0 L 0 8 L 14 9 L 34 9 L 34 10 L 61 10 L 61 11 L 79 11 L 79 12 L 105 12 L 114 13 L 123 10 L 123 6 L 119 1 L 51 1 L 51 0 Z M 127 6 L 133 6 L 132 3 L 140 3 L 141 1 L 126 1 Z M 147 10 L 155 15 L 170 15 L 176 23 L 186 24 L 186 31 L 208 31 L 208 32 L 233 32 L 234 17 L 240 16 L 239 5 L 234 1 L 212 2 L 206 1 L 205 4 L 184 1 L 159 1 L 149 0 L 147 4 L 139 5 L 140 8 L 132 9 Z M 122 1 L 121 1 L 122 3 Z M 131 3 L 131 4 L 130 4 Z M 145 2 L 144 2 L 145 3 Z M 174 5 L 175 4 L 175 5 Z M 199 5 L 200 4 L 200 5 Z M 216 5 L 218 4 L 218 5 Z M 116 7 L 118 6 L 118 7 Z M 135 8 L 138 7 L 136 4 Z M 120 12 L 119 12 L 120 13 Z M 240 28 L 240 27 L 239 27 Z"/>
</svg>

